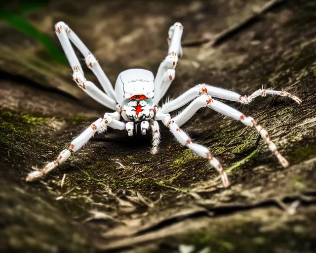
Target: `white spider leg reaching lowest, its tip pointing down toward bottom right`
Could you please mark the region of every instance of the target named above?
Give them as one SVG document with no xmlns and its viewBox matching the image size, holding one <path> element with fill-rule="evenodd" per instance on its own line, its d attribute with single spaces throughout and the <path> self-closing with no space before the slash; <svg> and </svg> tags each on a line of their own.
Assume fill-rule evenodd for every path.
<svg viewBox="0 0 316 253">
<path fill-rule="evenodd" d="M 178 127 L 178 125 L 171 119 L 169 114 L 162 114 L 158 111 L 158 113 L 156 114 L 156 119 L 161 120 L 163 125 L 169 127 L 172 134 L 182 145 L 187 146 L 198 156 L 208 159 L 210 165 L 217 169 L 217 171 L 220 173 L 224 186 L 229 186 L 228 177 L 222 165 L 210 154 L 209 150 L 206 147 L 193 143 L 190 137 L 184 131 L 182 131 Z"/>
</svg>

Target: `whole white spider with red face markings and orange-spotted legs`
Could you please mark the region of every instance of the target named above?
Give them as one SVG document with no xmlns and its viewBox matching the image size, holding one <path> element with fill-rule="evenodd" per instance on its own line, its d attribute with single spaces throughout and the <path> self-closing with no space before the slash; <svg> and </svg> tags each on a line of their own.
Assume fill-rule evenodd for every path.
<svg viewBox="0 0 316 253">
<path fill-rule="evenodd" d="M 219 102 L 213 97 L 237 101 L 243 104 L 249 104 L 257 96 L 280 95 L 288 96 L 297 103 L 301 100 L 289 94 L 286 91 L 275 91 L 259 89 L 250 96 L 241 96 L 236 92 L 217 88 L 207 84 L 198 84 L 187 90 L 182 95 L 166 102 L 158 107 L 158 102 L 163 97 L 168 87 L 175 77 L 175 67 L 178 62 L 178 55 L 182 55 L 181 37 L 183 26 L 175 23 L 168 32 L 168 55 L 161 62 L 156 78 L 151 71 L 144 69 L 129 69 L 118 75 L 115 89 L 109 79 L 102 71 L 98 61 L 95 59 L 89 49 L 81 42 L 79 37 L 64 22 L 58 22 L 55 25 L 56 34 L 61 42 L 67 59 L 74 71 L 73 80 L 78 86 L 94 100 L 107 108 L 115 110 L 114 113 L 106 113 L 87 127 L 70 144 L 68 149 L 63 150 L 54 162 L 48 163 L 41 171 L 33 171 L 28 174 L 26 181 L 34 181 L 46 173 L 65 162 L 71 153 L 78 151 L 89 139 L 96 133 L 104 133 L 106 127 L 112 127 L 120 130 L 127 130 L 129 136 L 136 131 L 140 123 L 141 133 L 146 134 L 151 129 L 153 134 L 153 147 L 151 153 L 158 153 L 160 142 L 159 125 L 157 121 L 162 121 L 163 125 L 169 127 L 175 138 L 182 144 L 191 149 L 195 154 L 209 160 L 211 166 L 219 171 L 225 187 L 229 185 L 226 172 L 221 164 L 209 152 L 209 150 L 199 144 L 193 143 L 190 137 L 179 127 L 186 123 L 201 107 L 208 107 L 223 115 L 229 116 L 240 121 L 248 127 L 255 127 L 261 137 L 268 143 L 269 149 L 276 155 L 283 167 L 288 166 L 288 162 L 276 150 L 276 145 L 271 141 L 267 131 L 258 125 L 253 118 L 244 116 L 236 109 Z M 100 90 L 95 84 L 87 81 L 83 75 L 79 60 L 71 45 L 71 42 L 84 55 L 86 65 L 98 78 L 105 92 Z M 193 100 L 180 114 L 171 118 L 170 112 L 179 109 Z M 136 124 L 135 124 L 136 123 Z"/>
</svg>

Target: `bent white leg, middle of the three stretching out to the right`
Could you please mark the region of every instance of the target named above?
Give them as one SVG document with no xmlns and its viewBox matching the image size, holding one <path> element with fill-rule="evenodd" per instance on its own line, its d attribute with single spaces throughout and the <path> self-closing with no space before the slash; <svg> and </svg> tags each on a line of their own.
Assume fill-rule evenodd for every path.
<svg viewBox="0 0 316 253">
<path fill-rule="evenodd" d="M 182 126 L 186 123 L 201 107 L 208 107 L 214 111 L 221 113 L 223 115 L 229 116 L 237 121 L 240 121 L 247 127 L 255 127 L 256 130 L 260 133 L 261 138 L 269 145 L 269 149 L 273 152 L 283 167 L 288 166 L 288 162 L 283 158 L 283 156 L 277 151 L 276 145 L 271 141 L 271 138 L 268 132 L 260 125 L 258 125 L 255 120 L 251 117 L 245 117 L 241 112 L 236 109 L 212 99 L 209 95 L 201 95 L 197 97 L 188 107 L 186 107 L 179 115 L 177 115 L 173 121 L 179 126 Z"/>
</svg>

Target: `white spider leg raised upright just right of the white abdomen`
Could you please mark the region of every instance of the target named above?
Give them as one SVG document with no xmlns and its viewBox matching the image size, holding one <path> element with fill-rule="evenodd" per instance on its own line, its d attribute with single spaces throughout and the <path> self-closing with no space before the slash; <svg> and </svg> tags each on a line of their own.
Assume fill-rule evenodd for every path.
<svg viewBox="0 0 316 253">
<path fill-rule="evenodd" d="M 154 104 L 158 104 L 159 100 L 161 99 L 161 97 L 163 97 L 173 79 L 175 78 L 174 69 L 177 66 L 178 55 L 182 56 L 182 33 L 183 26 L 179 22 L 175 23 L 169 29 L 167 38 L 167 42 L 169 45 L 168 55 L 161 62 L 155 78 Z"/>
</svg>

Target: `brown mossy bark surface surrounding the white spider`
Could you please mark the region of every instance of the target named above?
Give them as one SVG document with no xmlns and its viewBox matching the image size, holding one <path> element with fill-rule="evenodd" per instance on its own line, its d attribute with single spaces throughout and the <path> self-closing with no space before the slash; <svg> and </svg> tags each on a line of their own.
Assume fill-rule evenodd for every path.
<svg viewBox="0 0 316 253">
<path fill-rule="evenodd" d="M 156 73 L 175 21 L 185 28 L 184 41 L 212 38 L 265 2 L 56 0 L 23 18 L 58 48 L 53 26 L 68 23 L 114 84 L 127 68 Z M 14 3 L 8 9 L 14 11 Z M 315 1 L 284 1 L 216 47 L 184 47 L 167 95 L 199 83 L 240 94 L 264 85 L 288 88 L 303 100 L 228 102 L 268 130 L 291 164 L 287 169 L 256 131 L 211 110 L 198 111 L 183 126 L 227 169 L 227 189 L 207 161 L 162 125 L 156 156 L 150 135 L 128 138 L 110 129 L 43 180 L 25 182 L 29 171 L 53 160 L 107 109 L 81 92 L 70 67 L 36 38 L 2 20 L 0 251 L 182 253 L 184 245 L 192 252 L 316 251 L 315 12 Z"/>
</svg>

